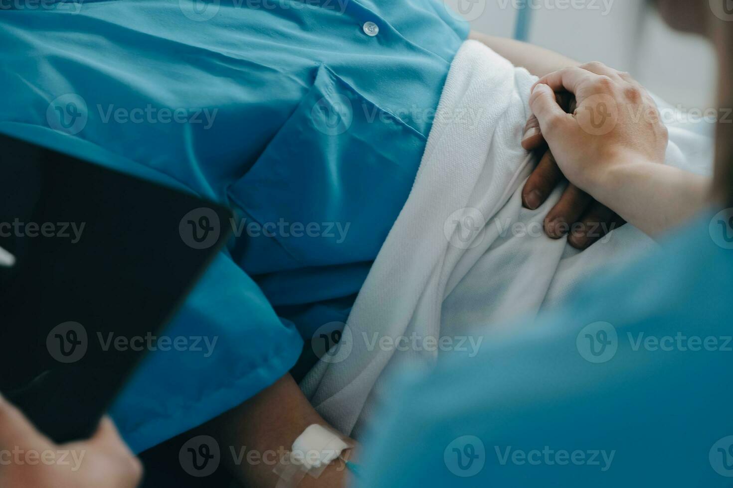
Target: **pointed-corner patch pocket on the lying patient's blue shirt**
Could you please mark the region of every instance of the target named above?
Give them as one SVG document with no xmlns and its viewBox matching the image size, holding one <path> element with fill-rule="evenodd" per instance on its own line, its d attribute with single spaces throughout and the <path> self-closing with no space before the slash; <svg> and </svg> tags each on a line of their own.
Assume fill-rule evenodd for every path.
<svg viewBox="0 0 733 488">
<path fill-rule="evenodd" d="M 244 268 L 373 260 L 408 198 L 425 142 L 321 66 L 290 119 L 229 188 L 244 212 L 237 222 Z M 268 269 L 259 269 L 265 255 Z"/>
</svg>

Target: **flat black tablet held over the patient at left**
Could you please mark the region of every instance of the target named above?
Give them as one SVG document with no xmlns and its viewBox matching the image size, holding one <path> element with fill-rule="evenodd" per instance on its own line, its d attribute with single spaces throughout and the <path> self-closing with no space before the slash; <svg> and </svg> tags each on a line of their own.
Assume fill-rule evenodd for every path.
<svg viewBox="0 0 733 488">
<path fill-rule="evenodd" d="M 0 135 L 0 390 L 57 442 L 89 435 L 230 217 Z"/>
</svg>

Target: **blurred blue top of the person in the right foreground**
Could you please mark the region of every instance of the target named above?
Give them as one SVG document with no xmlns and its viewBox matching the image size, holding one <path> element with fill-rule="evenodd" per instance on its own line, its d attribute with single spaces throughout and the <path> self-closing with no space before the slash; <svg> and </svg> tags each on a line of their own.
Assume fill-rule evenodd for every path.
<svg viewBox="0 0 733 488">
<path fill-rule="evenodd" d="M 731 487 L 732 215 L 397 380 L 359 486 Z"/>
</svg>

